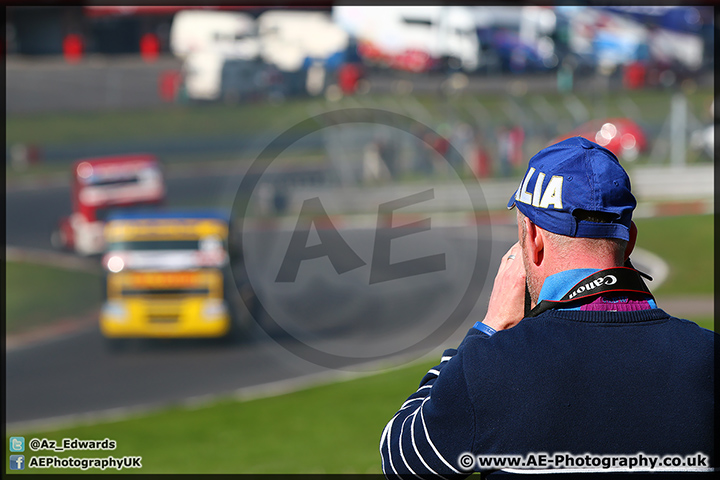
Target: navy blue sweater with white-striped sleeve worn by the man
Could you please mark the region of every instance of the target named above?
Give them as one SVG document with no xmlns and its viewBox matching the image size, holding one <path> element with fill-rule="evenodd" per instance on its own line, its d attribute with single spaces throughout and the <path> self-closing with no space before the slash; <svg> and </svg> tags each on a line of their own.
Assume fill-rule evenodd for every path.
<svg viewBox="0 0 720 480">
<path fill-rule="evenodd" d="M 383 472 L 462 478 L 463 453 L 711 456 L 715 338 L 658 308 L 471 329 L 385 427 Z"/>
</svg>

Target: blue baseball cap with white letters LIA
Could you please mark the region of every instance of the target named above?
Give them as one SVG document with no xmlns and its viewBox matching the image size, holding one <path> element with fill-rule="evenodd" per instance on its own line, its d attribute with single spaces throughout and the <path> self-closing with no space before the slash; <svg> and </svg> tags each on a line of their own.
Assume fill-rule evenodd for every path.
<svg viewBox="0 0 720 480">
<path fill-rule="evenodd" d="M 636 205 L 617 157 L 595 142 L 572 137 L 530 159 L 508 209 L 516 206 L 535 225 L 559 235 L 629 240 Z M 612 220 L 579 220 L 578 211 L 610 214 Z"/>
</svg>

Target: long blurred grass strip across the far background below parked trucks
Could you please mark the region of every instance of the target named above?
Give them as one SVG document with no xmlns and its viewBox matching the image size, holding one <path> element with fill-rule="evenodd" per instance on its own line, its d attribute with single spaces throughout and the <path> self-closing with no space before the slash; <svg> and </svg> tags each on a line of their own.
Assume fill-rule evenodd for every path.
<svg viewBox="0 0 720 480">
<path fill-rule="evenodd" d="M 659 89 L 611 92 L 602 96 L 594 92 L 577 93 L 576 96 L 591 116 L 627 116 L 632 111 L 642 116 L 637 118 L 642 123 L 657 122 L 658 119 L 662 123 L 662 119 L 669 113 L 671 98 L 670 93 Z M 540 100 L 540 97 L 544 100 Z M 533 107 L 538 101 L 552 107 L 559 119 L 572 119 L 567 111 L 566 96 L 559 93 L 531 93 L 520 97 L 511 97 L 509 94 L 460 94 L 453 97 L 424 94 L 412 98 L 414 100 L 409 102 L 412 111 L 417 112 L 419 107 L 424 110 L 423 114 L 426 113 L 435 122 L 444 122 L 456 115 L 473 121 L 473 115 L 482 112 L 481 116 L 490 123 L 493 123 L 493 119 L 502 123 L 512 119 L 507 113 L 510 98 L 534 121 L 547 121 Z M 712 98 L 712 88 L 699 89 L 688 94 L 689 108 L 704 120 Z M 399 98 L 397 95 L 372 94 L 353 97 L 351 105 L 358 106 L 360 103 L 383 108 L 386 105 L 402 106 L 406 100 L 408 98 Z M 67 145 L 117 140 L 215 137 L 237 135 L 238 132 L 250 135 L 280 132 L 324 109 L 342 108 L 344 105 L 345 102 L 328 103 L 322 98 L 299 98 L 281 104 L 173 105 L 162 109 L 11 115 L 6 118 L 5 142 L 6 146 L 16 143 Z M 597 109 L 598 106 L 602 108 Z"/>
</svg>

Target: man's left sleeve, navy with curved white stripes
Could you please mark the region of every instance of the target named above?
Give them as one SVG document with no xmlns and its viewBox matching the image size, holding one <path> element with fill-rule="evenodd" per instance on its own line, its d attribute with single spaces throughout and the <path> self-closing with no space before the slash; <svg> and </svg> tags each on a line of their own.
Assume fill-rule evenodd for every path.
<svg viewBox="0 0 720 480">
<path fill-rule="evenodd" d="M 474 413 L 462 361 L 454 349 L 443 353 L 418 390 L 402 404 L 380 438 L 387 478 L 465 478 L 458 465 L 473 442 Z"/>
</svg>

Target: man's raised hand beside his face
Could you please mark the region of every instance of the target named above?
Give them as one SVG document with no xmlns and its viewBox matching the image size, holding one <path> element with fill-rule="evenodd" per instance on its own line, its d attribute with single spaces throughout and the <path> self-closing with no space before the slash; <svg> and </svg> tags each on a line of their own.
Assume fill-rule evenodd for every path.
<svg viewBox="0 0 720 480">
<path fill-rule="evenodd" d="M 525 266 L 520 243 L 503 255 L 483 323 L 497 331 L 517 325 L 525 316 Z"/>
</svg>

